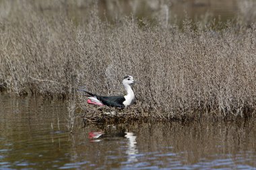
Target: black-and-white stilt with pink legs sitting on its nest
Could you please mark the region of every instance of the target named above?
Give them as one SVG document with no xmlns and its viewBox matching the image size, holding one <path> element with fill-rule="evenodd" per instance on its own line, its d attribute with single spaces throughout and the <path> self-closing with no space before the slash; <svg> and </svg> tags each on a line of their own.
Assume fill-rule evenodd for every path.
<svg viewBox="0 0 256 170">
<path fill-rule="evenodd" d="M 88 93 L 87 103 L 95 105 L 108 105 L 115 108 L 125 108 L 128 105 L 131 105 L 135 101 L 135 95 L 133 89 L 131 89 L 131 84 L 135 83 L 132 76 L 125 76 L 123 78 L 123 86 L 127 91 L 125 96 L 101 96 L 90 93 L 84 89 L 82 91 Z"/>
</svg>

